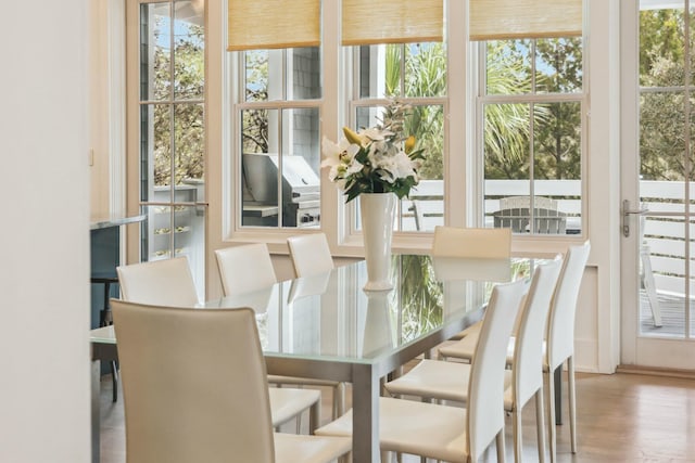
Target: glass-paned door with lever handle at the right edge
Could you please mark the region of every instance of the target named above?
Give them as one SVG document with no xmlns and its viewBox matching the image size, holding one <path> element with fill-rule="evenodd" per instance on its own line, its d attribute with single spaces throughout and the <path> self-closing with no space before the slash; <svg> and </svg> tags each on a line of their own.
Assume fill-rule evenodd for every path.
<svg viewBox="0 0 695 463">
<path fill-rule="evenodd" d="M 623 364 L 695 369 L 691 3 L 622 4 L 623 68 L 636 70 L 623 114 L 637 115 L 623 121 Z"/>
</svg>

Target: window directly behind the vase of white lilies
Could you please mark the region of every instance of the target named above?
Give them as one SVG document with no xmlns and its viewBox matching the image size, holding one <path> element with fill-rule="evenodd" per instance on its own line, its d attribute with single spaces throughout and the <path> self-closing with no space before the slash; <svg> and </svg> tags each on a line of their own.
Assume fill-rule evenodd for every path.
<svg viewBox="0 0 695 463">
<path fill-rule="evenodd" d="M 353 89 L 353 128 L 374 126 L 381 117 L 386 99 L 413 106 L 405 134 L 415 136 L 424 147 L 420 183 L 409 200 L 400 202 L 396 230 L 432 231 L 444 224 L 444 145 L 446 127 L 446 46 L 444 42 L 399 43 L 354 47 L 358 78 Z M 359 228 L 357 214 L 356 227 Z"/>
</svg>

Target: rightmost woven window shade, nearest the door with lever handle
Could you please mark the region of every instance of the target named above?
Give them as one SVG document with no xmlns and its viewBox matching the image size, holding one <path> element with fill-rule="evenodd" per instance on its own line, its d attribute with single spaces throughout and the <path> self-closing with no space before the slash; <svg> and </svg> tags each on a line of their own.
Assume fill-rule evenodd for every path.
<svg viewBox="0 0 695 463">
<path fill-rule="evenodd" d="M 470 0 L 470 40 L 582 35 L 582 0 Z"/>
</svg>

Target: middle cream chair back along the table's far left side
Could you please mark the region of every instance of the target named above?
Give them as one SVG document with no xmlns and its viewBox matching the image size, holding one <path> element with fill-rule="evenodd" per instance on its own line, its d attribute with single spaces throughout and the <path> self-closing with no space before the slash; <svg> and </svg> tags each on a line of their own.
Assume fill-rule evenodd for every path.
<svg viewBox="0 0 695 463">
<path fill-rule="evenodd" d="M 262 290 L 277 282 L 265 243 L 216 249 L 215 257 L 225 296 Z"/>
</svg>

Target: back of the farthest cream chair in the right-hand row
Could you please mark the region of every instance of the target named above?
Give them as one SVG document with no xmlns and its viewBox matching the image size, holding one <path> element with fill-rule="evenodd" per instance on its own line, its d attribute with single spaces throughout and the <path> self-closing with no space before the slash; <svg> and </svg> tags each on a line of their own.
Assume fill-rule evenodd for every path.
<svg viewBox="0 0 695 463">
<path fill-rule="evenodd" d="M 547 324 L 547 364 L 551 371 L 574 355 L 574 316 L 577 299 L 589 260 L 591 244 L 570 246 L 553 296 Z"/>
</svg>

